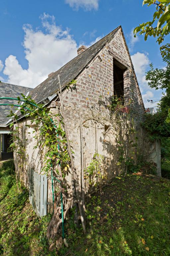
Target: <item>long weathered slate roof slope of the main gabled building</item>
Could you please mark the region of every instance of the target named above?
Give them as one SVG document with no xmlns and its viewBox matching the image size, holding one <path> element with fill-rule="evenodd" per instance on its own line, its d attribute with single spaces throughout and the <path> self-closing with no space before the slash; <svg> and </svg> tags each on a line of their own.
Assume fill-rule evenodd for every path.
<svg viewBox="0 0 170 256">
<path fill-rule="evenodd" d="M 39 103 L 43 99 L 57 93 L 59 91 L 58 75 L 60 77 L 61 87 L 64 88 L 67 86 L 69 82 L 78 76 L 83 68 L 86 67 L 86 65 L 105 46 L 105 44 L 114 38 L 119 28 L 120 26 L 49 76 L 30 92 L 29 95 L 31 98 Z"/>
</svg>

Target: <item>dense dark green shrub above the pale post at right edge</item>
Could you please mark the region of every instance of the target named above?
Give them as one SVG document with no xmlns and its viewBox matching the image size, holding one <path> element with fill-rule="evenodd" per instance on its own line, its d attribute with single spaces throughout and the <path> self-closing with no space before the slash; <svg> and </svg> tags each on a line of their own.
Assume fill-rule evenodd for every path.
<svg viewBox="0 0 170 256">
<path fill-rule="evenodd" d="M 145 114 L 145 120 L 141 124 L 148 132 L 151 140 L 170 136 L 170 125 L 165 122 L 166 114 L 157 112 L 153 115 Z"/>
</svg>

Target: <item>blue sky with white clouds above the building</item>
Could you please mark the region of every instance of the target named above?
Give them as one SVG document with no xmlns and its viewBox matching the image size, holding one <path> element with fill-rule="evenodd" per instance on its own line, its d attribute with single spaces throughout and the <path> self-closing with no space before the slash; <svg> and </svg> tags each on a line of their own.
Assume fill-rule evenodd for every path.
<svg viewBox="0 0 170 256">
<path fill-rule="evenodd" d="M 156 40 L 134 39 L 132 29 L 153 12 L 142 7 L 142 0 L 1 0 L 0 79 L 35 87 L 75 57 L 78 46 L 89 46 L 122 25 L 143 101 L 150 106 L 147 99 L 157 100 L 161 92 L 148 87 L 145 72 L 151 62 L 164 63 Z"/>
</svg>

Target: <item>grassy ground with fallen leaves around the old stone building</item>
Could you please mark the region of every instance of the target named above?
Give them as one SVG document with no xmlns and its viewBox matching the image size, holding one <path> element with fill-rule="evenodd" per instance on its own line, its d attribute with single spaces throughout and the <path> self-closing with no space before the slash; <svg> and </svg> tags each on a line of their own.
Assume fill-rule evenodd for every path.
<svg viewBox="0 0 170 256">
<path fill-rule="evenodd" d="M 6 256 L 56 255 L 48 252 L 45 238 L 50 216 L 41 220 L 35 216 L 28 192 L 17 192 L 11 165 L 6 162 L 0 168 L 0 252 Z M 82 235 L 81 226 L 74 227 L 73 211 L 69 215 L 65 225 L 69 248 L 62 247 L 58 255 L 170 255 L 169 182 L 128 175 L 116 177 L 103 192 L 87 203 L 87 234 Z M 105 215 L 107 219 L 100 223 Z"/>
</svg>

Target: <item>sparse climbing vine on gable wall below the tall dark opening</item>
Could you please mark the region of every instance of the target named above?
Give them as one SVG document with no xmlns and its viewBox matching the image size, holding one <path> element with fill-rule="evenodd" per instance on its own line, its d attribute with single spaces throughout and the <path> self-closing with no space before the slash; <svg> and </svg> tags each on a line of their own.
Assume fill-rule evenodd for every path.
<svg viewBox="0 0 170 256">
<path fill-rule="evenodd" d="M 105 105 L 103 97 L 99 97 L 100 107 L 95 105 L 89 108 L 89 116 L 84 123 L 93 120 L 101 128 L 107 127 L 104 132 L 103 144 L 108 143 L 107 138 L 113 136 L 117 143 L 116 165 L 119 173 L 126 175 L 135 164 L 135 155 L 138 154 L 138 137 L 134 129 L 134 112 L 132 101 L 126 101 L 124 97 L 112 96 L 110 105 Z M 114 156 L 115 157 L 115 156 Z M 89 164 L 87 170 L 90 173 L 95 166 L 95 159 Z M 87 173 L 87 171 L 86 171 Z M 100 176 L 100 174 L 99 174 Z"/>
</svg>

